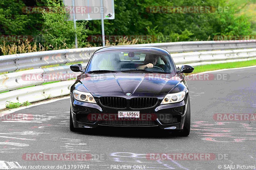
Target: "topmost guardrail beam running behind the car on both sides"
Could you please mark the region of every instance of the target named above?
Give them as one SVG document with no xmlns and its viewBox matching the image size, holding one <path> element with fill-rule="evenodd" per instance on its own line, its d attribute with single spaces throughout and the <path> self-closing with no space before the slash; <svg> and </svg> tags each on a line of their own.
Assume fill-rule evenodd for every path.
<svg viewBox="0 0 256 170">
<path fill-rule="evenodd" d="M 133 45 L 134 46 L 134 45 Z M 135 46 L 153 46 L 164 48 L 170 53 L 210 51 L 225 49 L 256 48 L 256 40 L 246 41 L 189 41 L 138 44 Z M 62 49 L 43 52 L 0 56 L 0 72 L 38 68 L 46 65 L 88 61 L 94 51 L 102 47 Z"/>
</svg>

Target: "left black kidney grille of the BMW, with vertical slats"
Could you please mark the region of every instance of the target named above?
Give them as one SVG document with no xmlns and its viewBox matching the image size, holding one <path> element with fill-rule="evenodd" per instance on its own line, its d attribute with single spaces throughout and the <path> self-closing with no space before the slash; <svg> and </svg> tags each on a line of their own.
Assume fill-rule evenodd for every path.
<svg viewBox="0 0 256 170">
<path fill-rule="evenodd" d="M 122 97 L 100 97 L 100 103 L 113 108 L 126 108 L 127 106 L 127 100 Z"/>
</svg>

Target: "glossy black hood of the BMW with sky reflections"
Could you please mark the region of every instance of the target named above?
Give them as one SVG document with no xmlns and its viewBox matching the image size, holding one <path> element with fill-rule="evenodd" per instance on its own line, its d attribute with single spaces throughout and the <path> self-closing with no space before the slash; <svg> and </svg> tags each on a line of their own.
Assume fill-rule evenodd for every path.
<svg viewBox="0 0 256 170">
<path fill-rule="evenodd" d="M 168 93 L 180 83 L 180 75 L 159 73 L 82 74 L 77 77 L 88 92 Z"/>
</svg>

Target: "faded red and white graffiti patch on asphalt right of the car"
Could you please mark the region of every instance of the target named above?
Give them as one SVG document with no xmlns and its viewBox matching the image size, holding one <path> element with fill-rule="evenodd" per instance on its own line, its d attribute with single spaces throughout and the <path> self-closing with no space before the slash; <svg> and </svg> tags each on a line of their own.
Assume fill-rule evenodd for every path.
<svg viewBox="0 0 256 170">
<path fill-rule="evenodd" d="M 201 139 L 209 142 L 233 143 L 256 140 L 256 128 L 242 122 L 198 121 L 192 124 L 191 133 L 204 136 Z"/>
</svg>

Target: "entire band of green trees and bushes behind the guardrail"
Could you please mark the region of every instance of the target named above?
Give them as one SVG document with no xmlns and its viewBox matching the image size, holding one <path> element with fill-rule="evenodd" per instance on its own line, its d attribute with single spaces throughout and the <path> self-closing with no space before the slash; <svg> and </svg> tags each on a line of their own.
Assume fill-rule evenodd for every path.
<svg viewBox="0 0 256 170">
<path fill-rule="evenodd" d="M 115 0 L 115 19 L 104 20 L 105 35 L 123 37 L 149 35 L 151 39 L 119 38 L 115 42 L 107 41 L 107 45 L 208 41 L 213 40 L 216 35 L 252 34 L 252 31 L 256 30 L 256 22 L 253 16 L 243 13 L 243 7 L 247 3 L 239 4 L 234 0 L 229 1 L 231 3 L 226 0 Z M 44 10 L 42 13 L 27 13 L 24 12 L 26 6 L 48 6 L 49 10 Z M 162 6 L 207 6 L 211 7 L 211 12 L 169 11 L 166 13 L 151 10 Z M 0 55 L 74 48 L 75 33 L 79 47 L 101 46 L 101 42 L 87 40 L 89 35 L 101 35 L 100 20 L 77 21 L 75 30 L 73 21 L 68 21 L 68 18 L 62 0 L 30 0 L 29 2 L 2 0 L 0 2 L 0 36 L 39 35 L 41 38 L 33 42 L 28 40 L 30 45 L 25 41 L 14 44 L 8 41 L 4 43 L 1 39 Z"/>
</svg>

